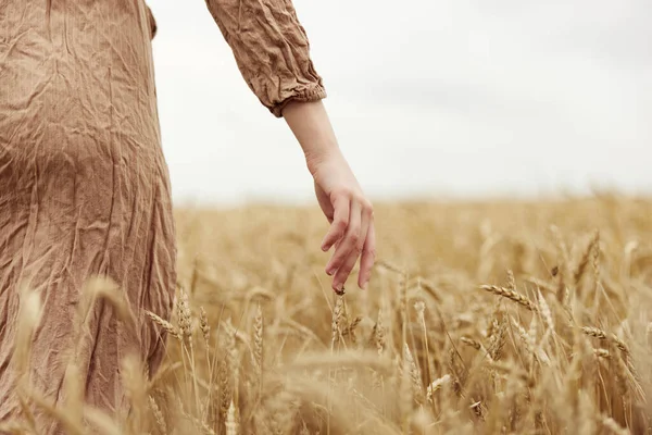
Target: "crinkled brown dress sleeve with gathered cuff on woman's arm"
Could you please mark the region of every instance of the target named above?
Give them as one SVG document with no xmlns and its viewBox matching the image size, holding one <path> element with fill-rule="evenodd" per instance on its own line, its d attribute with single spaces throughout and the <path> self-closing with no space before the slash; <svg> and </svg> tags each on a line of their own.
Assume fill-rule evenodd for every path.
<svg viewBox="0 0 652 435">
<path fill-rule="evenodd" d="M 205 0 L 249 88 L 275 116 L 326 97 L 291 0 Z"/>
</svg>

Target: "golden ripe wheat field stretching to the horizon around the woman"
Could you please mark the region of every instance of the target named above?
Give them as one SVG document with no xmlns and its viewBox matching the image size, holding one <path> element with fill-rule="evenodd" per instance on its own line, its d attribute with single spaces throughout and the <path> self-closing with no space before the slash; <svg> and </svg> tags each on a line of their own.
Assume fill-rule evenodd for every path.
<svg viewBox="0 0 652 435">
<path fill-rule="evenodd" d="M 26 400 L 73 434 L 652 433 L 652 200 L 375 216 L 368 289 L 340 297 L 316 206 L 177 209 L 174 316 L 142 313 L 167 355 L 151 376 L 125 361 L 128 412 Z M 2 430 L 35 433 L 28 417 Z"/>
</svg>

